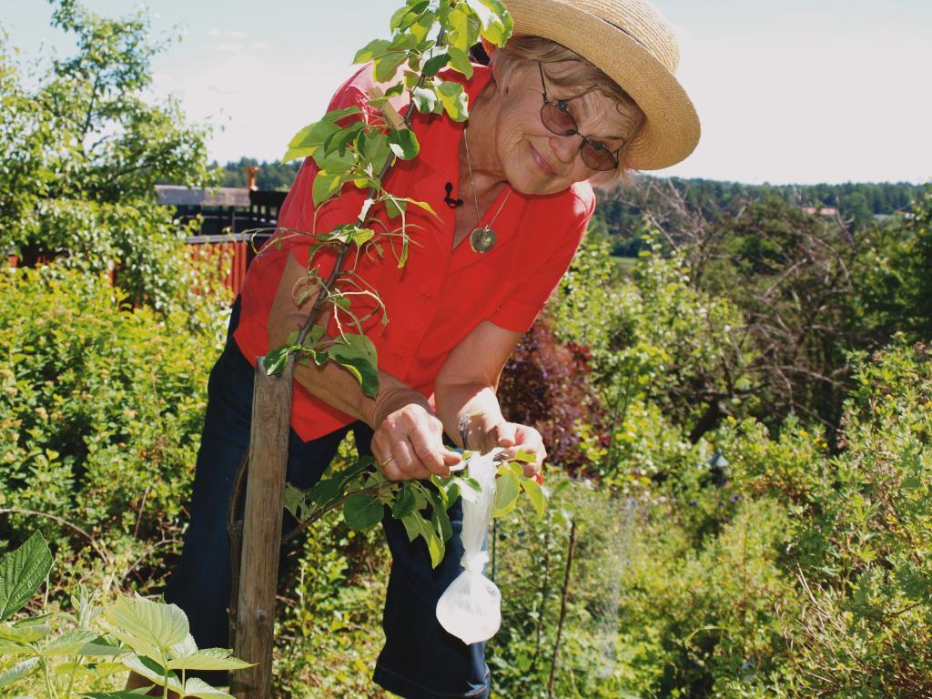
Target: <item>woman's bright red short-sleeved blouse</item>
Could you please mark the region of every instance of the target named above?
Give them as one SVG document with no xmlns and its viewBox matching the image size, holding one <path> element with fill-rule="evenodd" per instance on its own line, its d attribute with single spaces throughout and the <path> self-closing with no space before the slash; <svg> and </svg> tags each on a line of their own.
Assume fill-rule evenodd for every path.
<svg viewBox="0 0 932 699">
<path fill-rule="evenodd" d="M 350 77 L 337 90 L 329 109 L 359 106 L 364 117 L 375 115 L 376 111 L 366 104 L 370 99 L 367 89 L 373 83 L 371 72 L 368 65 Z M 470 80 L 453 72 L 445 75 L 446 79 L 464 81 L 470 103 L 489 77 L 485 66 L 475 66 Z M 413 241 L 401 269 L 396 259 L 401 252 L 397 239 L 381 241 L 381 256 L 370 247 L 368 254 L 350 254 L 348 262 L 362 280 L 377 289 L 387 309 L 386 324 L 378 316 L 365 323 L 366 335 L 378 352 L 379 369 L 432 398 L 433 382 L 446 356 L 480 322 L 493 322 L 519 333 L 528 330 L 569 267 L 596 198 L 592 187 L 581 183 L 549 196 L 525 196 L 513 191 L 505 201 L 510 190 L 506 186 L 482 219 L 482 224 L 487 225 L 504 201 L 495 220 L 495 246 L 485 254 L 475 253 L 467 238 L 453 249 L 456 217 L 444 203 L 445 184 L 452 183 L 453 192 L 468 199 L 459 189 L 463 125 L 445 116 L 424 116 L 417 111 L 414 114 L 412 129 L 418 136 L 420 153 L 414 160 L 397 161 L 385 180 L 385 188 L 399 196 L 428 202 L 439 220 L 418 207 L 408 206 L 406 216 Z M 268 347 L 268 312 L 287 255 L 308 265 L 313 240 L 294 231 L 315 230 L 310 191 L 316 172 L 313 158 L 306 158 L 281 207 L 280 229 L 246 276 L 240 324 L 233 336 L 254 365 L 256 357 L 272 349 Z M 340 224 L 354 223 L 364 199 L 364 190 L 347 185 L 338 199 L 323 204 L 317 212 L 316 231 L 329 232 Z M 398 219 L 390 224 L 384 213 L 379 217 L 386 230 L 398 226 Z M 329 248 L 315 254 L 322 278 L 329 274 L 335 258 Z M 365 296 L 353 297 L 354 312 L 364 314 L 373 306 Z M 335 335 L 336 331 L 336 322 L 331 318 L 330 333 Z M 321 437 L 353 420 L 295 383 L 292 426 L 303 440 Z"/>
</svg>

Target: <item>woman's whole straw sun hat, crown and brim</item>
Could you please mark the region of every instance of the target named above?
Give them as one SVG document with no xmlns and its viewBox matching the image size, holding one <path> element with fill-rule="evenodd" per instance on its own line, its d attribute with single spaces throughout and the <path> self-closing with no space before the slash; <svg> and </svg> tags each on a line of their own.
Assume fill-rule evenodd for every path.
<svg viewBox="0 0 932 699">
<path fill-rule="evenodd" d="M 507 0 L 515 35 L 542 36 L 580 54 L 618 83 L 647 117 L 631 144 L 637 170 L 659 170 L 692 153 L 699 117 L 673 74 L 679 48 L 646 0 Z"/>
</svg>

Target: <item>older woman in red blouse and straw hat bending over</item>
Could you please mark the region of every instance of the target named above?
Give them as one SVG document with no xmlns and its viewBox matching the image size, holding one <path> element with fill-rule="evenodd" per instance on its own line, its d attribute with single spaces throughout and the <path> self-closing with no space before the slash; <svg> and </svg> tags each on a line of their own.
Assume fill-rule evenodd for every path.
<svg viewBox="0 0 932 699">
<path fill-rule="evenodd" d="M 363 255 L 356 269 L 391 319 L 367 329 L 378 349 L 377 397 L 336 365 L 295 367 L 289 480 L 299 487 L 321 477 L 349 431 L 391 479 L 445 475 L 459 455 L 444 435 L 459 444 L 463 416 L 471 447 L 521 447 L 538 457 L 528 474 L 539 471 L 540 433 L 509 422 L 496 400 L 502 365 L 569 267 L 595 208 L 592 185 L 671 165 L 698 140 L 692 104 L 673 76 L 676 43 L 646 2 L 508 5 L 515 36 L 471 79 L 446 75 L 463 81 L 469 122 L 417 115 L 420 155 L 398 162 L 387 180 L 389 191 L 429 202 L 439 219 L 409 210 L 418 244 L 403 269 L 391 254 Z M 372 82 L 371 66 L 363 67 L 331 108 L 357 105 L 373 117 Z M 282 207 L 282 228 L 325 231 L 355 220 L 364 194 L 351 185 L 314 210 L 315 173 L 308 158 Z M 255 358 L 307 317 L 312 299 L 298 303 L 295 288 L 307 283 L 308 267 L 326 276 L 334 262 L 326 249 L 309 259 L 309 237 L 277 237 L 250 268 L 212 371 L 191 526 L 167 594 L 201 647 L 227 644 L 225 516 L 249 444 Z M 409 542 L 391 516 L 383 522 L 392 566 L 375 681 L 404 697 L 487 696 L 484 644 L 463 644 L 434 614 L 459 574 L 461 510 L 450 515 L 454 536 L 437 569 L 423 542 Z"/>
</svg>

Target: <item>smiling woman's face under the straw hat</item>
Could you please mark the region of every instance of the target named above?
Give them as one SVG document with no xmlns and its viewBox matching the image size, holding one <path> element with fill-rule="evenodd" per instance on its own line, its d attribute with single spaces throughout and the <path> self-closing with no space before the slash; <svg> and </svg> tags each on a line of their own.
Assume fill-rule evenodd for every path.
<svg viewBox="0 0 932 699">
<path fill-rule="evenodd" d="M 572 66 L 572 62 L 547 63 L 544 79 L 548 75 L 567 75 Z M 515 67 L 504 83 L 500 86 L 495 147 L 501 170 L 514 189 L 530 195 L 555 194 L 598 174 L 583 162 L 582 138 L 557 136 L 543 125 L 544 86 L 537 63 Z M 615 100 L 596 90 L 561 88 L 548 81 L 546 92 L 550 102 L 566 102 L 580 133 L 604 144 L 612 153 L 622 146 L 634 126 Z"/>
</svg>

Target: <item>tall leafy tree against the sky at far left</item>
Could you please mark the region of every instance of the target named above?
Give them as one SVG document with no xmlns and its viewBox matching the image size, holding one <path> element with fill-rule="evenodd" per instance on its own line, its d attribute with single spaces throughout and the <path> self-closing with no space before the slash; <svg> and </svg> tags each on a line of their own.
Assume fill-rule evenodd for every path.
<svg viewBox="0 0 932 699">
<path fill-rule="evenodd" d="M 134 303 L 184 304 L 181 234 L 154 185 L 208 182 L 208 130 L 187 124 L 176 101 L 144 99 L 166 44 L 149 39 L 143 14 L 109 20 L 75 0 L 53 5 L 74 55 L 29 75 L 0 47 L 0 249 L 26 265 L 61 256 L 94 273 L 116 268 Z"/>
</svg>

